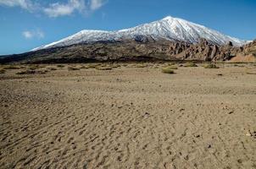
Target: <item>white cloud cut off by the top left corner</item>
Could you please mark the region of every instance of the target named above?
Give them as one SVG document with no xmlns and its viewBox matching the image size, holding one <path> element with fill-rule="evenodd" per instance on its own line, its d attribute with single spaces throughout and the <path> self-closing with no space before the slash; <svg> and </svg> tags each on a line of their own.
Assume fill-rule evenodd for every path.
<svg viewBox="0 0 256 169">
<path fill-rule="evenodd" d="M 31 0 L 0 0 L 0 5 L 7 7 L 20 7 L 32 11 L 36 8 L 36 3 Z"/>
</svg>

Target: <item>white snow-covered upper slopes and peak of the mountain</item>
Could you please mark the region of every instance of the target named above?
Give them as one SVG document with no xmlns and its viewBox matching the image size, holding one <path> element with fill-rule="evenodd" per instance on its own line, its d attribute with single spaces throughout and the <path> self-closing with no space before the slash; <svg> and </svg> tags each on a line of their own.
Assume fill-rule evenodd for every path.
<svg viewBox="0 0 256 169">
<path fill-rule="evenodd" d="M 164 38 L 170 41 L 186 41 L 189 43 L 198 43 L 201 38 L 204 38 L 218 45 L 225 45 L 231 41 L 234 46 L 242 46 L 248 42 L 229 35 L 223 35 L 203 25 L 197 25 L 184 19 L 168 16 L 149 24 L 139 25 L 125 30 L 81 30 L 75 35 L 71 35 L 60 41 L 55 41 L 46 46 L 37 47 L 32 51 L 58 46 L 70 46 L 81 42 L 92 43 L 97 41 L 118 41 L 125 38 L 135 39 L 138 35 L 151 36 L 154 40 Z"/>
</svg>

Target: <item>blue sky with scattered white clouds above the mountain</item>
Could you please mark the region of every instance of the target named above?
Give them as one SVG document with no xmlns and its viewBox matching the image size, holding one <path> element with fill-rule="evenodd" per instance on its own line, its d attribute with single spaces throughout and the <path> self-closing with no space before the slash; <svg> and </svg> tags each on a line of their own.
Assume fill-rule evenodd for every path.
<svg viewBox="0 0 256 169">
<path fill-rule="evenodd" d="M 0 0 L 0 55 L 27 52 L 80 30 L 120 30 L 169 15 L 256 39 L 255 0 Z"/>
</svg>

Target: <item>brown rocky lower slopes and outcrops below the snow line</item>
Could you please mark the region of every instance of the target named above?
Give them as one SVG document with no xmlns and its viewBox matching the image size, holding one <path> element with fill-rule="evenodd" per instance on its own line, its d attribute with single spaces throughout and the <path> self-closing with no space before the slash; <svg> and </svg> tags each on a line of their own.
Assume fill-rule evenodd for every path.
<svg viewBox="0 0 256 169">
<path fill-rule="evenodd" d="M 183 41 L 154 41 L 150 36 L 136 39 L 77 44 L 6 56 L 0 63 L 88 63 L 112 61 L 227 61 L 237 53 L 256 55 L 256 41 L 235 47 L 232 43 L 218 46 L 204 39 L 198 44 Z"/>
</svg>

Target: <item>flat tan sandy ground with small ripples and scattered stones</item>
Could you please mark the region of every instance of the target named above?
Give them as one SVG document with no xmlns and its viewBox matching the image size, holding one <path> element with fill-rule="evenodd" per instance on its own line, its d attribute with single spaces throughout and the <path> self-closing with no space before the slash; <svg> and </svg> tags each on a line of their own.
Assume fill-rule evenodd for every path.
<svg viewBox="0 0 256 169">
<path fill-rule="evenodd" d="M 256 168 L 255 65 L 18 71 L 0 74 L 0 168 Z"/>
</svg>

